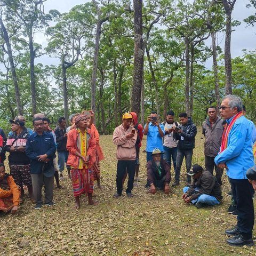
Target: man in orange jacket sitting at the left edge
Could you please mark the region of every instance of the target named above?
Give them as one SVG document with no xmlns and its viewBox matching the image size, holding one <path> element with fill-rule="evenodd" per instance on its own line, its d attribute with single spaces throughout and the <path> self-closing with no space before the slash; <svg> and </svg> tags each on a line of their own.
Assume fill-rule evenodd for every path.
<svg viewBox="0 0 256 256">
<path fill-rule="evenodd" d="M 14 214 L 18 210 L 20 190 L 10 174 L 5 173 L 4 164 L 0 163 L 0 212 Z"/>
</svg>

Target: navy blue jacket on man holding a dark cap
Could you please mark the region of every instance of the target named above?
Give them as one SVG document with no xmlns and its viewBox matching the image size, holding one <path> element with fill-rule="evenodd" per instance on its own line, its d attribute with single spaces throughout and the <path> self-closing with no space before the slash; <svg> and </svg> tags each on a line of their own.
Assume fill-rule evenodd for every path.
<svg viewBox="0 0 256 256">
<path fill-rule="evenodd" d="M 30 158 L 30 173 L 42 173 L 43 162 L 38 161 L 39 155 L 46 154 L 53 166 L 53 155 L 55 154 L 56 146 L 52 134 L 43 132 L 38 135 L 37 132 L 31 134 L 26 143 L 26 155 Z"/>
</svg>

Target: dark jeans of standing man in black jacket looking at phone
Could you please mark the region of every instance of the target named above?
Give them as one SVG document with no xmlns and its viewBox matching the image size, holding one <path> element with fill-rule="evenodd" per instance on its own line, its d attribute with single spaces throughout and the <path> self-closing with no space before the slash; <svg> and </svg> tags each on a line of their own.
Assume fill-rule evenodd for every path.
<svg viewBox="0 0 256 256">
<path fill-rule="evenodd" d="M 180 169 L 185 156 L 187 172 L 191 169 L 193 149 L 179 149 L 177 152 L 175 180 L 180 181 Z M 191 182 L 191 176 L 187 175 L 187 182 Z"/>
</svg>

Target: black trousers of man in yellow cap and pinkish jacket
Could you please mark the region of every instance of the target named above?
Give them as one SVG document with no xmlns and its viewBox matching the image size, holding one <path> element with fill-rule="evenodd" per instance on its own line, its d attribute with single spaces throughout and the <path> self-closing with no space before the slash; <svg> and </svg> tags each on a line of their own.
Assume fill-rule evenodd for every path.
<svg viewBox="0 0 256 256">
<path fill-rule="evenodd" d="M 118 160 L 117 161 L 117 172 L 116 172 L 116 187 L 117 193 L 122 194 L 123 178 L 125 173 L 128 173 L 128 183 L 126 193 L 131 193 L 133 189 L 133 181 L 135 175 L 135 160 Z"/>
</svg>

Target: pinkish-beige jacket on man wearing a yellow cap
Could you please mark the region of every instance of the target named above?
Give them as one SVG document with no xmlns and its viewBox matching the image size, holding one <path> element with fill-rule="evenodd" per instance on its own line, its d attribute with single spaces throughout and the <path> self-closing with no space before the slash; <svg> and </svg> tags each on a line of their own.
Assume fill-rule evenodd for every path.
<svg viewBox="0 0 256 256">
<path fill-rule="evenodd" d="M 126 139 L 126 135 L 131 131 L 132 127 L 124 130 L 123 124 L 117 126 L 114 131 L 113 143 L 117 146 L 117 160 L 135 160 L 136 158 L 135 143 L 137 141 L 137 132 L 134 133 L 131 139 Z"/>
</svg>

